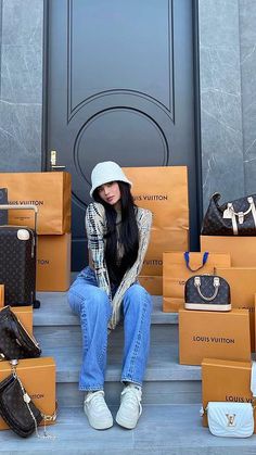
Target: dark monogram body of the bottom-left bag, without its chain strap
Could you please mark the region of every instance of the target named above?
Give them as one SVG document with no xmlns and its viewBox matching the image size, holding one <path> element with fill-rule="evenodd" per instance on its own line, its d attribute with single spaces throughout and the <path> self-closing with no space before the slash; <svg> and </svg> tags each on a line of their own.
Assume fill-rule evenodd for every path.
<svg viewBox="0 0 256 455">
<path fill-rule="evenodd" d="M 0 383 L 0 415 L 8 426 L 22 438 L 26 438 L 35 431 L 35 421 L 24 401 L 24 392 L 18 379 L 10 375 Z M 30 400 L 30 410 L 39 425 L 42 420 L 40 410 Z"/>
</svg>

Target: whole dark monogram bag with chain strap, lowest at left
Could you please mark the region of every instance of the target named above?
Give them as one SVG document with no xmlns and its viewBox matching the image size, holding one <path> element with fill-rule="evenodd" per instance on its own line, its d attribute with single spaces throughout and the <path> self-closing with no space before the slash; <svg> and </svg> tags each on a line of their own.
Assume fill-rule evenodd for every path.
<svg viewBox="0 0 256 455">
<path fill-rule="evenodd" d="M 27 438 L 36 431 L 38 438 L 52 439 L 46 431 L 38 433 L 38 425 L 44 420 L 55 420 L 53 416 L 44 416 L 31 401 L 16 374 L 17 361 L 12 361 L 12 374 L 0 382 L 0 415 L 16 434 Z"/>
</svg>

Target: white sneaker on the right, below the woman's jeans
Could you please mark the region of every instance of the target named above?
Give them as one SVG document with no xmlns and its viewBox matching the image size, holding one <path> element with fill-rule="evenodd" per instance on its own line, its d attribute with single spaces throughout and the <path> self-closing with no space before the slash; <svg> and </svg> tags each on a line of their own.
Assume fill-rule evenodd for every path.
<svg viewBox="0 0 256 455">
<path fill-rule="evenodd" d="M 131 430 L 137 426 L 142 413 L 141 388 L 138 386 L 127 386 L 120 394 L 120 407 L 116 415 L 116 421 L 121 427 Z"/>
</svg>

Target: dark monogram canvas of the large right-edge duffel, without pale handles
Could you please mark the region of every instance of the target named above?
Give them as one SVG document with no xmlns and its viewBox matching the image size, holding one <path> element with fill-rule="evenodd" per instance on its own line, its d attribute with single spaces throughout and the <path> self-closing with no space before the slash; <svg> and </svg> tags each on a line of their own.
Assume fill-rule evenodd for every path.
<svg viewBox="0 0 256 455">
<path fill-rule="evenodd" d="M 256 194 L 253 194 L 254 203 L 256 204 Z M 212 195 L 209 206 L 203 219 L 201 233 L 203 236 L 233 236 L 232 220 L 223 218 L 223 212 L 227 210 L 227 203 L 219 205 L 219 193 Z M 236 199 L 232 202 L 234 211 L 246 212 L 248 208 L 247 197 Z M 256 236 L 256 228 L 252 212 L 244 216 L 242 224 L 238 223 L 239 236 Z"/>
</svg>

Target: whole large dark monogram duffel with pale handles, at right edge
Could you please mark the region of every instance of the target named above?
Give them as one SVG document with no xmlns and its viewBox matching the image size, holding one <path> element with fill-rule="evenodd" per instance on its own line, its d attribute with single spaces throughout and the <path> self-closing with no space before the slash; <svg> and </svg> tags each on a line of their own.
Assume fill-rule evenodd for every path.
<svg viewBox="0 0 256 455">
<path fill-rule="evenodd" d="M 212 195 L 203 219 L 203 236 L 256 236 L 256 194 L 218 204 L 219 193 Z"/>
</svg>

